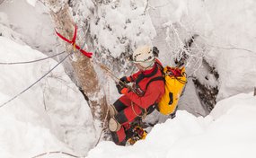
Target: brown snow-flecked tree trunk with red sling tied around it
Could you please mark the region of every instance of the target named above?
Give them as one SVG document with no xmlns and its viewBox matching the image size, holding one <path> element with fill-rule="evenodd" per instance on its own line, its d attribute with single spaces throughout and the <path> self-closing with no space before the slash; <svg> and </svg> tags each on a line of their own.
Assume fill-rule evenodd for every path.
<svg viewBox="0 0 256 158">
<path fill-rule="evenodd" d="M 49 12 L 57 31 L 66 39 L 72 40 L 75 30 L 75 22 L 69 12 L 69 7 L 66 0 L 40 0 L 49 8 Z M 76 44 L 82 46 L 80 40 L 76 36 Z M 73 47 L 64 42 L 66 52 L 72 52 Z M 72 61 L 72 66 L 75 70 L 76 79 L 81 85 L 86 101 L 88 102 L 94 120 L 103 122 L 106 111 L 107 101 L 104 92 L 99 85 L 98 77 L 93 67 L 93 63 L 88 57 L 84 57 L 82 53 L 75 50 L 75 61 Z"/>
</svg>

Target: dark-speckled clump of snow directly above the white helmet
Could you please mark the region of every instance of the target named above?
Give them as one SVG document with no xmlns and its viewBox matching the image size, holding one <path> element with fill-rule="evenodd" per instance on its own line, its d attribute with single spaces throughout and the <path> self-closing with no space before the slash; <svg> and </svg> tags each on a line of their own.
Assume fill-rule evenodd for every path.
<svg viewBox="0 0 256 158">
<path fill-rule="evenodd" d="M 119 4 L 99 6 L 99 21 L 91 21 L 91 36 L 98 38 L 94 45 L 100 50 L 106 48 L 112 57 L 119 57 L 128 45 L 133 49 L 145 43 L 150 45 L 155 31 L 144 11 L 141 1 L 119 1 Z"/>
</svg>

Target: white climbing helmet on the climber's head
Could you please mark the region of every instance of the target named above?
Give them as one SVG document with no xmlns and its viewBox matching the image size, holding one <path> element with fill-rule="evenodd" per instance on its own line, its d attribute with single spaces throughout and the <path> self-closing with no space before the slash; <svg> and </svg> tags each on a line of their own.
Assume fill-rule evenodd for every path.
<svg viewBox="0 0 256 158">
<path fill-rule="evenodd" d="M 150 46 L 141 46 L 138 47 L 132 55 L 134 63 L 138 63 L 140 66 L 149 67 L 154 64 L 154 54 L 152 47 Z"/>
</svg>

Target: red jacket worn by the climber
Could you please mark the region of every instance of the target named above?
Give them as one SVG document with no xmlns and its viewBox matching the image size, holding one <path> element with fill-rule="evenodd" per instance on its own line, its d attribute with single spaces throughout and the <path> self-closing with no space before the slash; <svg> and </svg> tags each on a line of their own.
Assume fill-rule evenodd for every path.
<svg viewBox="0 0 256 158">
<path fill-rule="evenodd" d="M 160 65 L 157 65 L 156 62 Z M 135 92 L 127 92 L 125 95 L 128 98 L 136 103 L 139 107 L 143 109 L 147 109 L 150 106 L 154 105 L 154 103 L 158 103 L 163 96 L 164 93 L 164 81 L 157 80 L 146 84 L 155 77 L 163 77 L 161 72 L 161 66 L 159 60 L 156 60 L 154 63 L 154 67 L 152 69 L 146 71 L 138 71 L 136 74 L 128 77 L 128 80 L 134 82 L 135 89 L 137 92 L 142 93 L 138 95 Z"/>
</svg>

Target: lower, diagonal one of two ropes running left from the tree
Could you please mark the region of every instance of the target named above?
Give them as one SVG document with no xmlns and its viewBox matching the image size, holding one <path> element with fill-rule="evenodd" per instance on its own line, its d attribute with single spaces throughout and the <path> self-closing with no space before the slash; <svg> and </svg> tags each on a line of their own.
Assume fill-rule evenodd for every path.
<svg viewBox="0 0 256 158">
<path fill-rule="evenodd" d="M 71 54 L 73 54 L 73 53 L 74 53 L 74 52 L 72 52 L 72 53 L 66 55 L 66 57 L 69 57 L 69 56 L 70 56 Z M 23 90 L 22 92 L 18 93 L 17 95 L 13 96 L 13 98 L 10 99 L 9 101 L 6 101 L 6 102 L 4 102 L 3 104 L 1 104 L 1 105 L 0 105 L 0 108 L 4 107 L 4 105 L 6 105 L 7 103 L 13 101 L 13 100 L 16 99 L 18 96 L 22 95 L 23 92 L 28 91 L 28 90 L 29 90 L 33 85 L 35 85 L 36 83 L 39 83 L 41 79 L 43 79 L 46 75 L 49 75 L 49 73 L 51 73 L 58 65 L 60 65 L 60 64 L 66 59 L 66 57 L 64 57 L 60 62 L 58 62 L 56 66 L 52 67 L 52 68 L 49 70 L 48 73 L 46 73 L 45 75 L 42 75 L 42 76 L 40 77 L 40 79 L 38 79 L 36 82 L 32 83 L 28 88 L 26 88 L 26 89 Z"/>
</svg>

